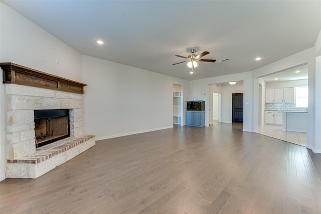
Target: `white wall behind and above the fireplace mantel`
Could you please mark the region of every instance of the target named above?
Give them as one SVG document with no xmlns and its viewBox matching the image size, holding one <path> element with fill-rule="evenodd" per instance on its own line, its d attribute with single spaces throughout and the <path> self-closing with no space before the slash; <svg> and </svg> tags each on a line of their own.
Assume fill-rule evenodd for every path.
<svg viewBox="0 0 321 214">
<path fill-rule="evenodd" d="M 81 81 L 81 54 L 0 2 L 0 62 Z M 48 61 L 43 61 L 46 54 Z M 56 66 L 56 59 L 59 65 Z M 0 180 L 5 174 L 5 100 L 0 86 Z"/>
</svg>

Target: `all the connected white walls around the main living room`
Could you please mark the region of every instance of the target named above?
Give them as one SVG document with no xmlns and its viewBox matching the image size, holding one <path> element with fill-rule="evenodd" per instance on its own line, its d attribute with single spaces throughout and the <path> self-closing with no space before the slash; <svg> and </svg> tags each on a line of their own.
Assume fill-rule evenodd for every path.
<svg viewBox="0 0 321 214">
<path fill-rule="evenodd" d="M 186 109 L 187 100 L 205 100 L 207 102 L 206 114 L 208 115 L 208 85 L 231 81 L 243 81 L 245 102 L 243 130 L 253 131 L 258 126 L 258 78 L 308 63 L 307 147 L 321 152 L 321 142 L 319 142 L 321 134 L 318 122 L 321 118 L 319 111 L 315 111 L 315 109 L 321 108 L 320 102 L 317 101 L 321 96 L 321 87 L 319 87 L 321 59 L 315 59 L 316 56 L 321 55 L 321 32 L 314 48 L 271 63 L 253 72 L 188 82 L 88 56 L 82 57 L 80 53 L 1 2 L 0 20 L 0 62 L 13 62 L 88 84 L 88 87 L 85 87 L 84 98 L 84 118 L 86 120 L 84 131 L 96 134 L 98 139 L 171 126 L 173 123 L 173 84 L 183 86 L 183 109 Z M 47 62 L 43 60 L 44 55 L 47 56 Z M 59 61 L 58 66 L 56 60 Z M 0 179 L 5 173 L 4 128 L 6 118 L 3 88 L 2 84 L 0 86 Z M 190 95 L 189 92 L 191 92 Z M 317 102 L 314 103 L 314 101 Z M 206 117 L 207 125 L 209 124 L 208 118 Z M 185 113 L 183 113 L 183 124 L 185 124 Z M 100 128 L 102 128 L 102 132 L 99 131 Z"/>
</svg>

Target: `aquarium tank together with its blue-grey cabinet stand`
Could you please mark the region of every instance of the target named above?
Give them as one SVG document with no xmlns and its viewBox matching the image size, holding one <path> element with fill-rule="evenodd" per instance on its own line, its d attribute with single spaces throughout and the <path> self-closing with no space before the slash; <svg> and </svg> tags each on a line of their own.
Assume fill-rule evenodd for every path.
<svg viewBox="0 0 321 214">
<path fill-rule="evenodd" d="M 187 101 L 187 126 L 205 126 L 205 101 Z"/>
</svg>

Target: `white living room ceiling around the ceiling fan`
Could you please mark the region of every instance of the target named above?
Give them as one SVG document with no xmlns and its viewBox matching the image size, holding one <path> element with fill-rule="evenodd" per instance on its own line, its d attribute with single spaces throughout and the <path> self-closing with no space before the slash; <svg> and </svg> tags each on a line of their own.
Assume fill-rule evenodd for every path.
<svg viewBox="0 0 321 214">
<path fill-rule="evenodd" d="M 252 71 L 313 47 L 321 29 L 321 1 L 1 1 L 84 55 L 186 80 Z M 191 48 L 230 60 L 191 75 L 172 65 Z"/>
</svg>

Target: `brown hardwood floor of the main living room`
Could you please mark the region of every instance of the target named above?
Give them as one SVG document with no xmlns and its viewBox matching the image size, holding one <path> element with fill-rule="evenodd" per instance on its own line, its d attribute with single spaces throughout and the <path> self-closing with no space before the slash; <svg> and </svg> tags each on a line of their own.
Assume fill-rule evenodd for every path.
<svg viewBox="0 0 321 214">
<path fill-rule="evenodd" d="M 320 154 L 242 124 L 175 126 L 6 179 L 0 213 L 321 213 L 320 175 Z"/>
</svg>

